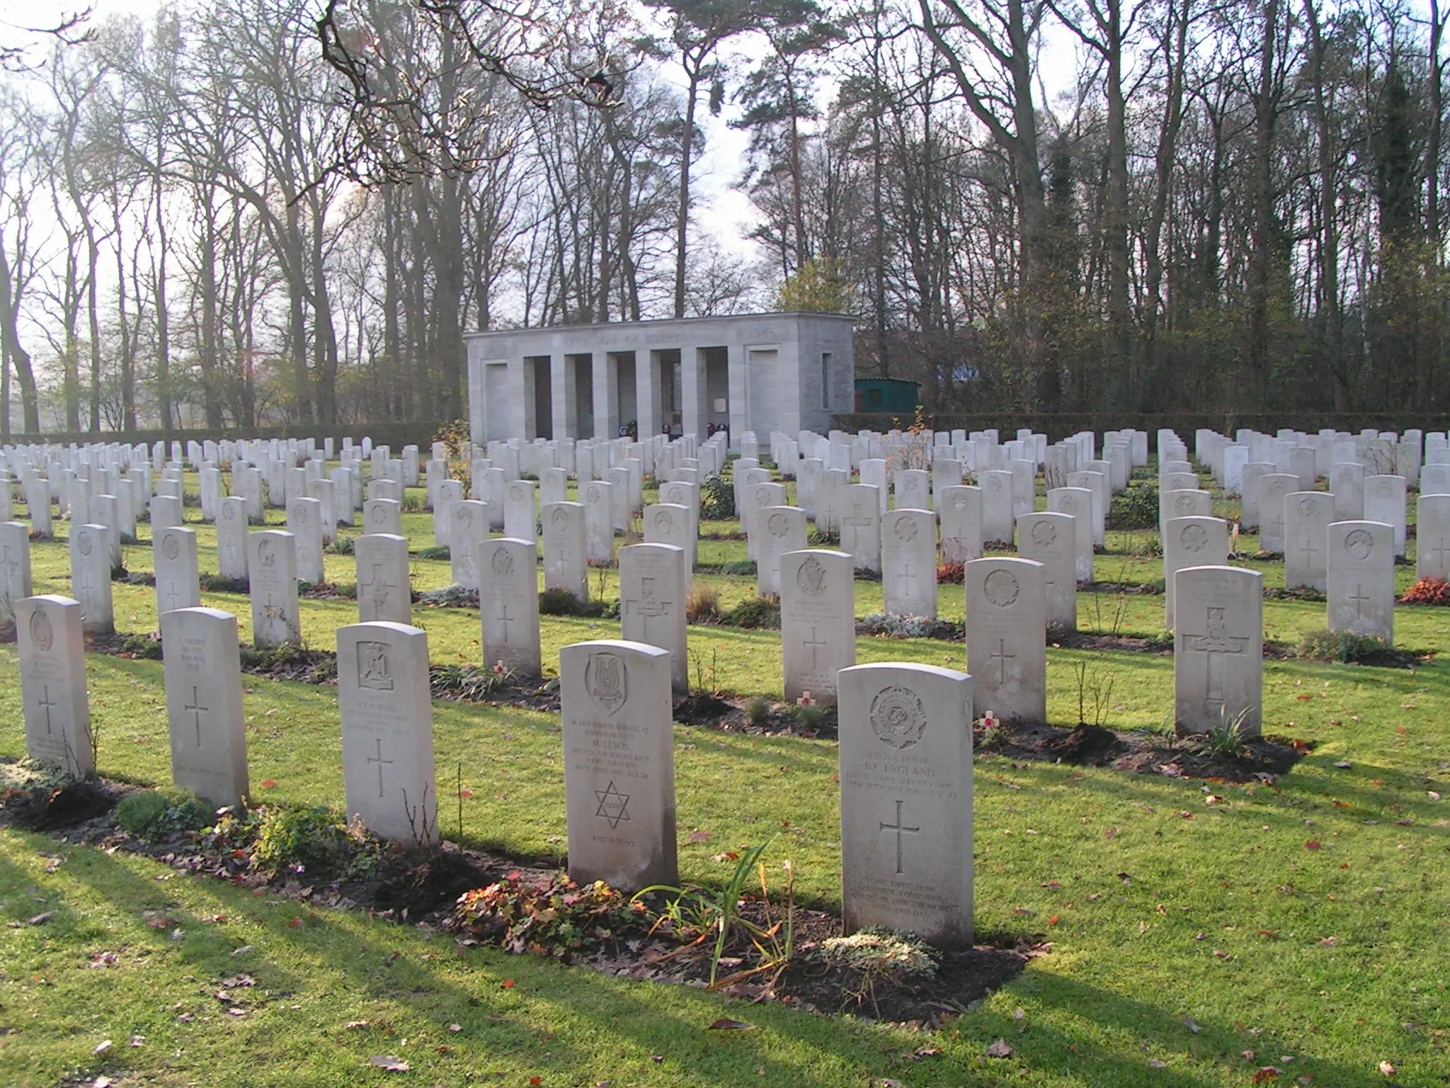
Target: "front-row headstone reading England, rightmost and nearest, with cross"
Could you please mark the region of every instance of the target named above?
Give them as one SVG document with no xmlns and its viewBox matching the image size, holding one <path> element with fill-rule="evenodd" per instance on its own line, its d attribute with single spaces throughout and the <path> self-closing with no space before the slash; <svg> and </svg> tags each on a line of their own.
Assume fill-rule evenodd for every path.
<svg viewBox="0 0 1450 1088">
<path fill-rule="evenodd" d="M 972 677 L 929 664 L 840 673 L 847 933 L 972 947 Z"/>
</svg>

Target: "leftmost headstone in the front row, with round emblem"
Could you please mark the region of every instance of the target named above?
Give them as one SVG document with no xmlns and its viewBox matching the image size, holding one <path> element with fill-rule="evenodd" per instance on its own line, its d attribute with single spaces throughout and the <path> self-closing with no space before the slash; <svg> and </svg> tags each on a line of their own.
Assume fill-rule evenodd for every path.
<svg viewBox="0 0 1450 1088">
<path fill-rule="evenodd" d="M 14 602 L 14 615 L 25 751 L 75 778 L 93 775 L 81 606 L 65 596 L 28 596 Z"/>
</svg>

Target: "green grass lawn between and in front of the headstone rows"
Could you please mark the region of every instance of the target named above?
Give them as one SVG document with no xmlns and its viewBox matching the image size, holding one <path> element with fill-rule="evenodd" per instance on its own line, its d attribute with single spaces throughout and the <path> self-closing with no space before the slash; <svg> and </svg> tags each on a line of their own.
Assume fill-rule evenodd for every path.
<svg viewBox="0 0 1450 1088">
<path fill-rule="evenodd" d="M 188 516 L 196 509 L 188 508 Z M 708 529 L 724 527 L 708 525 Z M 64 535 L 64 527 L 59 528 Z M 431 519 L 407 515 L 415 548 Z M 146 528 L 142 527 L 145 535 Z M 215 570 L 209 527 L 203 570 Z M 1099 577 L 1148 582 L 1127 554 L 1146 534 L 1109 534 Z M 722 560 L 744 543 L 721 541 Z M 1411 541 L 1411 548 L 1414 543 Z M 1241 541 L 1240 550 L 1251 553 Z M 36 592 L 65 592 L 62 544 L 33 548 Z M 1282 577 L 1277 564 L 1246 560 Z M 145 547 L 126 566 L 149 569 Z M 1119 567 L 1124 576 L 1119 576 Z M 448 564 L 416 560 L 420 588 Z M 328 557 L 351 582 L 352 560 Z M 605 574 L 605 593 L 610 573 Z M 728 599 L 747 577 L 706 576 Z M 1399 569 L 1401 588 L 1411 579 Z M 942 588 L 942 615 L 961 615 Z M 1102 598 L 1095 601 L 1095 598 Z M 246 599 L 203 595 L 238 611 Z M 880 586 L 857 583 L 857 614 Z M 1161 598 L 1079 596 L 1085 628 L 1150 634 Z M 355 618 L 351 602 L 304 601 L 309 643 Z M 154 590 L 116 586 L 117 627 L 155 625 Z M 478 660 L 477 614 L 415 609 L 434 662 Z M 1267 601 L 1270 638 L 1324 625 L 1324 605 Z M 1399 608 L 1396 643 L 1438 648 L 1450 615 Z M 615 637 L 616 621 L 545 618 L 544 656 Z M 779 632 L 695 627 L 710 682 L 780 692 Z M 861 660 L 963 664 L 960 644 L 863 638 Z M 1112 679 L 1109 724 L 1156 728 L 1172 709 L 1172 659 L 1048 651 L 1048 717 L 1077 720 L 1077 676 Z M 100 772 L 170 780 L 162 670 L 93 656 Z M 251 779 L 260 799 L 342 802 L 335 691 L 244 677 Z M 480 949 L 415 927 L 319 911 L 173 875 L 148 860 L 52 838 L 0 834 L 0 1084 L 503 1084 L 529 1085 L 1034 1085 L 1114 1088 L 1276 1084 L 1443 1085 L 1450 1078 L 1450 677 L 1415 670 L 1269 662 L 1264 728 L 1315 744 L 1273 786 L 1128 776 L 977 757 L 976 924 L 1041 934 L 1051 955 L 931 1037 L 679 986 L 626 984 Z M 523 857 L 564 849 L 563 759 L 552 715 L 435 702 L 442 831 Z M 14 648 L 0 647 L 0 757 L 23 756 Z M 1353 766 L 1338 769 L 1337 762 Z M 719 882 L 726 850 L 780 833 L 803 901 L 840 905 L 835 746 L 676 727 L 682 876 Z M 461 827 L 457 782 L 464 786 Z M 1221 798 L 1208 804 L 1209 795 Z M 692 833 L 708 838 L 690 841 Z M 57 865 L 54 859 L 59 859 Z M 55 911 L 41 926 L 28 918 Z M 148 926 L 148 911 L 170 923 Z M 251 950 L 239 956 L 239 947 Z M 109 955 L 115 956 L 112 962 Z M 233 989 L 245 1015 L 215 994 Z M 513 982 L 512 986 L 506 985 Z M 706 1031 L 716 1017 L 750 1033 Z M 365 1027 L 348 1027 L 367 1020 Z M 458 1031 L 450 1030 L 457 1024 Z M 1198 1029 L 1198 1030 L 1193 1030 Z M 138 1046 L 132 1046 L 141 1037 Z M 1005 1039 L 1011 1058 L 987 1058 Z M 94 1049 L 112 1047 L 102 1056 Z M 915 1059 L 937 1046 L 940 1056 Z M 444 1047 L 444 1049 L 441 1049 Z M 1251 1058 L 1246 1058 L 1251 1052 Z M 406 1073 L 368 1059 L 396 1055 Z M 1380 1062 L 1396 1072 L 1386 1078 Z M 71 1078 L 71 1079 L 67 1079 Z M 84 1079 L 83 1079 L 84 1078 Z"/>
</svg>

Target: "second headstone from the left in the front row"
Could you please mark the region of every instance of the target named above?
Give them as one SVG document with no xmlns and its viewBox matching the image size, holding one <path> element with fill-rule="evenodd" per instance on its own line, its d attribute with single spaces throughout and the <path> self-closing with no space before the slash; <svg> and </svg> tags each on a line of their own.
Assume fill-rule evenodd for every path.
<svg viewBox="0 0 1450 1088">
<path fill-rule="evenodd" d="M 161 641 L 171 780 L 213 805 L 239 804 L 248 780 L 236 617 L 215 608 L 173 609 L 161 617 Z"/>
</svg>

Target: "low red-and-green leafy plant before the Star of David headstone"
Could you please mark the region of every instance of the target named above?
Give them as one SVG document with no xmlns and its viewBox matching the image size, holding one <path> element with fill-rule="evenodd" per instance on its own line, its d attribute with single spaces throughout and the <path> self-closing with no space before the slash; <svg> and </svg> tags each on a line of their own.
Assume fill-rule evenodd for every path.
<svg viewBox="0 0 1450 1088">
<path fill-rule="evenodd" d="M 644 933 L 648 912 L 603 881 L 580 888 L 564 873 L 528 882 L 513 872 L 464 892 L 447 926 L 505 952 L 568 963 L 579 953 Z"/>
</svg>

